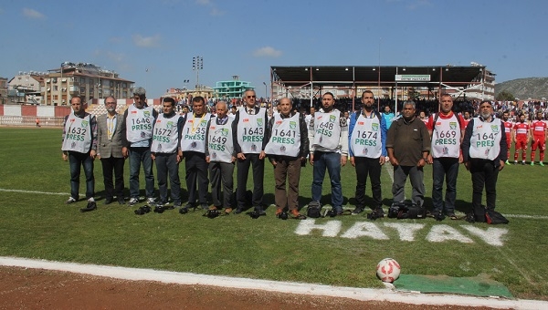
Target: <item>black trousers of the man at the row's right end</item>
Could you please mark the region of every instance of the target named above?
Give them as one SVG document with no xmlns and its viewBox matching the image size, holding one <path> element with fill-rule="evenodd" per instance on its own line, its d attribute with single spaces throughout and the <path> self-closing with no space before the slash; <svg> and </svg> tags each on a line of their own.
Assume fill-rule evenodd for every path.
<svg viewBox="0 0 548 310">
<path fill-rule="evenodd" d="M 481 196 L 485 188 L 487 209 L 494 210 L 497 200 L 497 179 L 499 167 L 493 160 L 470 160 L 472 174 L 472 208 L 477 221 L 485 219 L 485 210 L 481 207 Z M 483 221 L 484 222 L 484 221 Z"/>
</svg>

